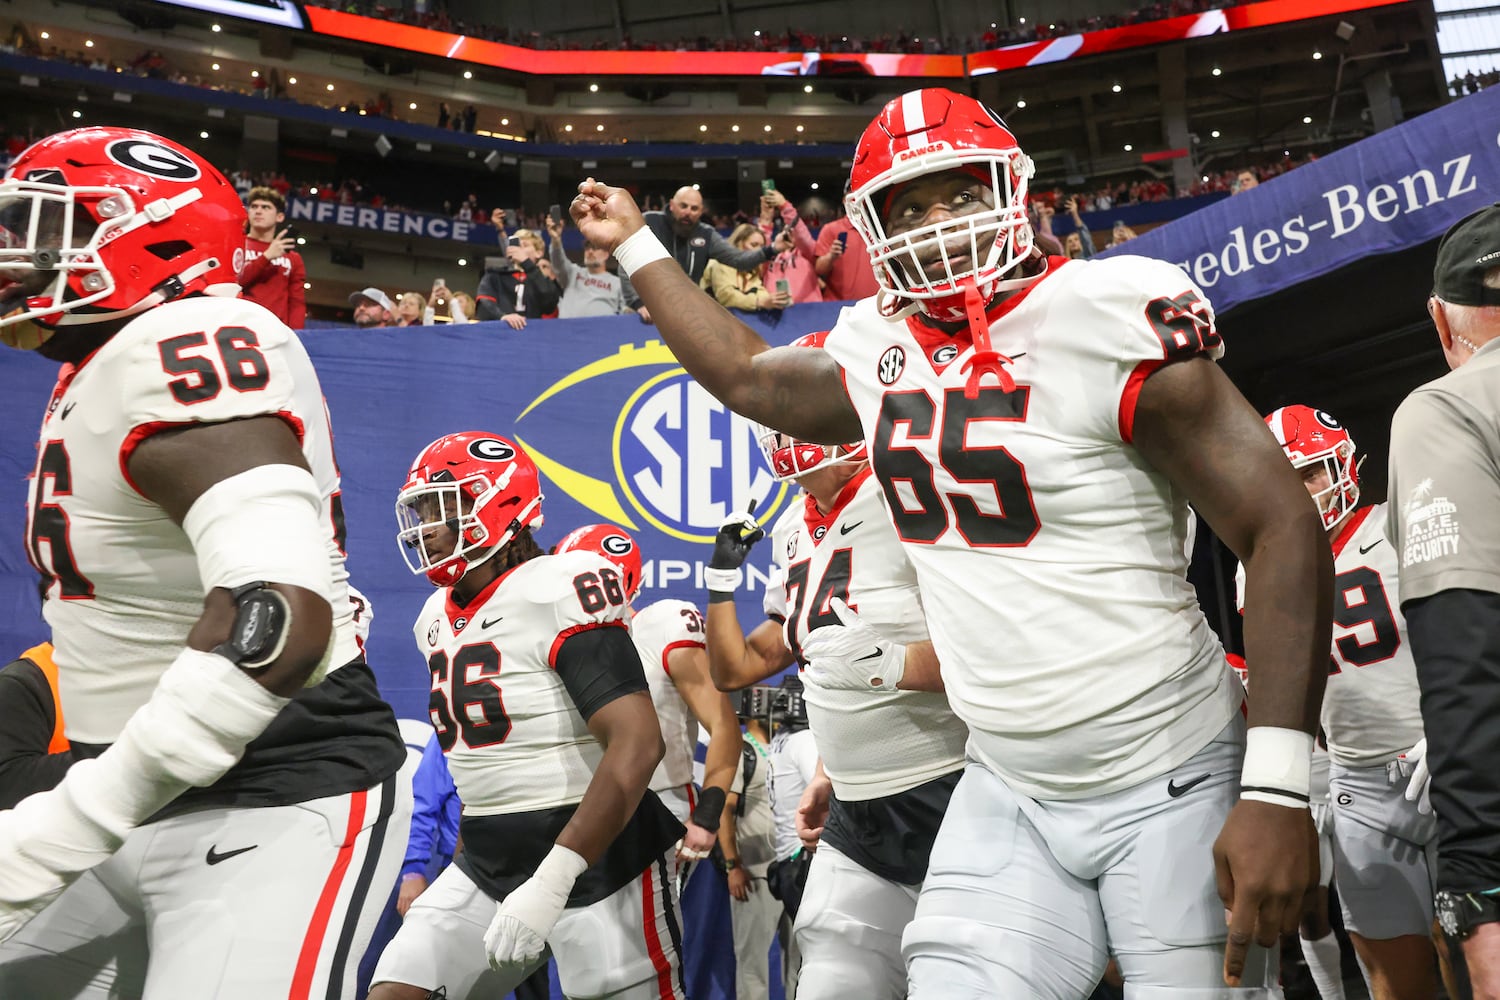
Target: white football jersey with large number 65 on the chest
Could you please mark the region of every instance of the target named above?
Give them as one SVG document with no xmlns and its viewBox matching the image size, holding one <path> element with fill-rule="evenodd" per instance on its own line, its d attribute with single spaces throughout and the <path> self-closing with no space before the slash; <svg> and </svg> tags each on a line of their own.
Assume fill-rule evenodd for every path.
<svg viewBox="0 0 1500 1000">
<path fill-rule="evenodd" d="M 1197 286 L 1137 256 L 1052 258 L 990 312 L 1012 363 L 964 396 L 969 331 L 843 310 L 826 349 L 916 568 L 970 753 L 1042 799 L 1176 768 L 1239 708 L 1186 580 L 1186 498 L 1131 447 L 1146 376 L 1222 345 Z"/>
</svg>

